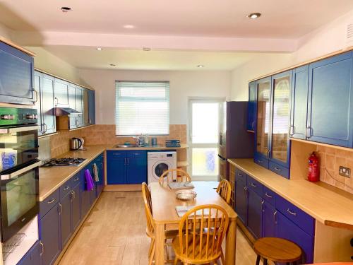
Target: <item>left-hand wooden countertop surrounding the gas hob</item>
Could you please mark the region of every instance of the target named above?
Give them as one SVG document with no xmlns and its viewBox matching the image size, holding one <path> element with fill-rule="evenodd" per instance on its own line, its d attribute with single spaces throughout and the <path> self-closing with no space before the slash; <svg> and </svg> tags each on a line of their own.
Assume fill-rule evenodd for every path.
<svg viewBox="0 0 353 265">
<path fill-rule="evenodd" d="M 86 158 L 86 160 L 77 167 L 40 167 L 40 201 L 44 201 L 47 196 L 64 184 L 66 180 L 82 170 L 85 165 L 88 165 L 90 161 L 95 159 L 107 148 L 111 148 L 111 146 L 97 145 L 86 146 L 86 148 L 87 150 L 70 151 L 59 156 L 59 158 Z"/>
</svg>

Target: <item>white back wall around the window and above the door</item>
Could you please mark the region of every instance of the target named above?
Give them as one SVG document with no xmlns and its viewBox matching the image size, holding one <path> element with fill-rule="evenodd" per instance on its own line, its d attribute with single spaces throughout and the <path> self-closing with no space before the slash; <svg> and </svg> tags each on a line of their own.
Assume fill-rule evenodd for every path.
<svg viewBox="0 0 353 265">
<path fill-rule="evenodd" d="M 96 123 L 115 124 L 115 81 L 169 81 L 170 124 L 187 124 L 189 97 L 229 98 L 230 71 L 112 71 L 81 69 L 96 90 Z"/>
</svg>

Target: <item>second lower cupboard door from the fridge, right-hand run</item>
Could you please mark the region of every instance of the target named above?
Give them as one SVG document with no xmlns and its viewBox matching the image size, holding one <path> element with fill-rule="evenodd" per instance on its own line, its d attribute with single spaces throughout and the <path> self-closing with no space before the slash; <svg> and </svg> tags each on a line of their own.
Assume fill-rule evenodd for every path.
<svg viewBox="0 0 353 265">
<path fill-rule="evenodd" d="M 263 199 L 248 188 L 248 228 L 256 238 L 261 237 Z"/>
</svg>

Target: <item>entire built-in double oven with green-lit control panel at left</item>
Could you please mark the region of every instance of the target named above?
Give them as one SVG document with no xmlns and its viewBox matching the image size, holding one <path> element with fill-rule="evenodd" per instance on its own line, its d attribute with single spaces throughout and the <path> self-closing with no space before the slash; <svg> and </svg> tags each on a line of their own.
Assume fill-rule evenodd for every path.
<svg viewBox="0 0 353 265">
<path fill-rule="evenodd" d="M 37 110 L 0 108 L 1 242 L 39 212 Z"/>
</svg>

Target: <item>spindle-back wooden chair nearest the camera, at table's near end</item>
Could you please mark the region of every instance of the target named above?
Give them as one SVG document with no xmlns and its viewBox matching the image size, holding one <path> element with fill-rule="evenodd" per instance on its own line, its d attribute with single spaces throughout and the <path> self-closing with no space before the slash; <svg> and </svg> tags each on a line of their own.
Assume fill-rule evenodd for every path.
<svg viewBox="0 0 353 265">
<path fill-rule="evenodd" d="M 172 243 L 174 265 L 178 260 L 184 264 L 205 264 L 220 257 L 225 264 L 221 249 L 228 224 L 225 209 L 214 204 L 196 206 L 185 213 L 179 223 L 179 236 Z M 208 232 L 197 232 L 203 228 L 208 228 Z"/>
</svg>

